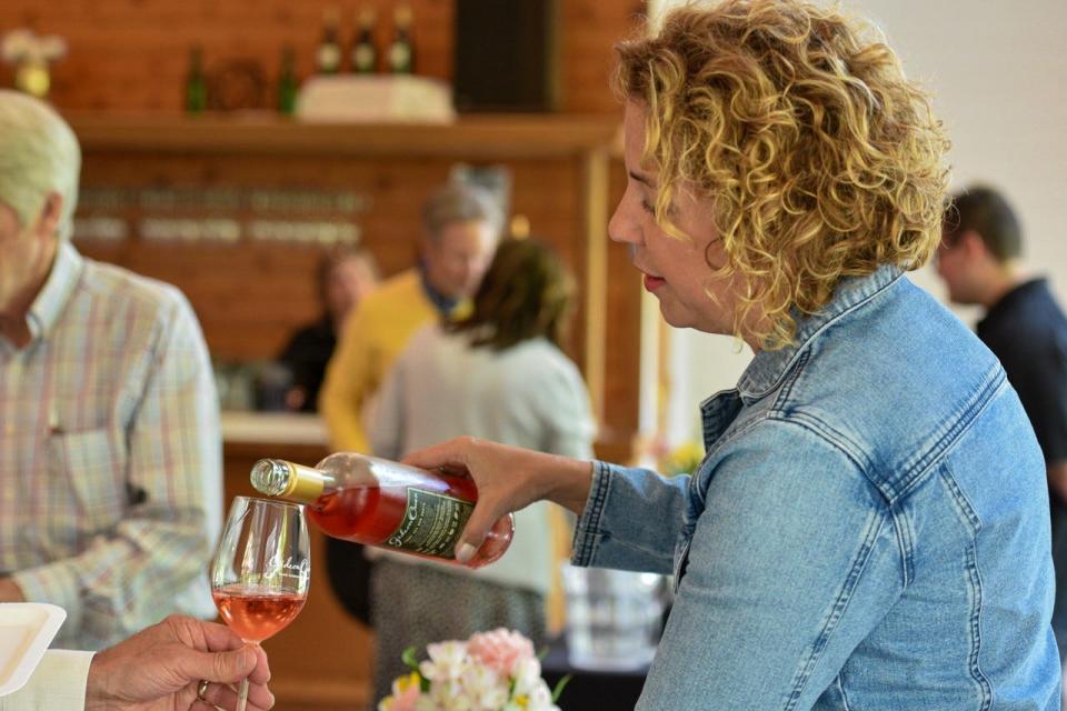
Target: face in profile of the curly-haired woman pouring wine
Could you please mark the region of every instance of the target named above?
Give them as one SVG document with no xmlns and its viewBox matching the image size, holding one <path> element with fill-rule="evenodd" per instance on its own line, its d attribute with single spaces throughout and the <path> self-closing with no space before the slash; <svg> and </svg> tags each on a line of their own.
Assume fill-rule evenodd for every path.
<svg viewBox="0 0 1067 711">
<path fill-rule="evenodd" d="M 658 176 L 641 164 L 645 151 L 642 104 L 627 102 L 624 119 L 626 192 L 611 216 L 608 233 L 630 248 L 634 266 L 645 274 L 645 288 L 659 299 L 664 319 L 674 327 L 708 333 L 734 332 L 734 282 L 715 278 L 712 266 L 726 263 L 711 213 L 711 201 L 676 189 L 669 217 L 689 239 L 671 237 L 656 223 Z M 712 300 L 708 294 L 714 293 Z"/>
</svg>

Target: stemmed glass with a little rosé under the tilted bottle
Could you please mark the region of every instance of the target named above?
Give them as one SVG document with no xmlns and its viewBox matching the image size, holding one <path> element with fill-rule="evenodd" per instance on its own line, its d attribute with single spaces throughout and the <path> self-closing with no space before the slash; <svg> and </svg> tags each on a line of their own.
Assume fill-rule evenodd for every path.
<svg viewBox="0 0 1067 711">
<path fill-rule="evenodd" d="M 259 644 L 285 629 L 303 608 L 311 581 L 310 539 L 303 507 L 235 497 L 211 561 L 215 607 L 245 642 Z M 238 711 L 248 702 L 248 679 Z"/>
</svg>

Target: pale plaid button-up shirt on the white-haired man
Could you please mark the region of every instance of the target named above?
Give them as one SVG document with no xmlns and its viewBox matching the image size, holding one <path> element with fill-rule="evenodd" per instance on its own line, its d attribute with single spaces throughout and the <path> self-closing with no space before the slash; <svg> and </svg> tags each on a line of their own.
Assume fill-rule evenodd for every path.
<svg viewBox="0 0 1067 711">
<path fill-rule="evenodd" d="M 188 301 L 61 242 L 28 322 L 26 348 L 0 336 L 0 572 L 67 610 L 58 647 L 213 617 L 219 413 Z"/>
</svg>

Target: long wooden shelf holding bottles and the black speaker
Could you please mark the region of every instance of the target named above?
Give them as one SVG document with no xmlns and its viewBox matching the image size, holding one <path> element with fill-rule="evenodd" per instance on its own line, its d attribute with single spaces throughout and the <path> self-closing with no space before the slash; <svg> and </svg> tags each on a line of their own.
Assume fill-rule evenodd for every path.
<svg viewBox="0 0 1067 711">
<path fill-rule="evenodd" d="M 599 114 L 466 116 L 452 124 L 301 123 L 273 114 L 77 113 L 86 151 L 300 153 L 471 159 L 582 156 L 610 149 L 619 119 Z"/>
</svg>

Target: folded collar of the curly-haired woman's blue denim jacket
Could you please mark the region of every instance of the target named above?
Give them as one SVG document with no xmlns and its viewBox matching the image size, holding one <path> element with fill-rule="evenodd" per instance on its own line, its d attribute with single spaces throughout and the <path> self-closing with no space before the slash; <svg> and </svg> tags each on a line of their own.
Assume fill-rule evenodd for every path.
<svg viewBox="0 0 1067 711">
<path fill-rule="evenodd" d="M 798 319 L 794 344 L 756 354 L 738 381 L 741 400 L 754 402 L 774 391 L 822 329 L 893 284 L 901 273 L 899 267 L 884 264 L 866 277 L 841 280 L 822 310 Z"/>
</svg>

